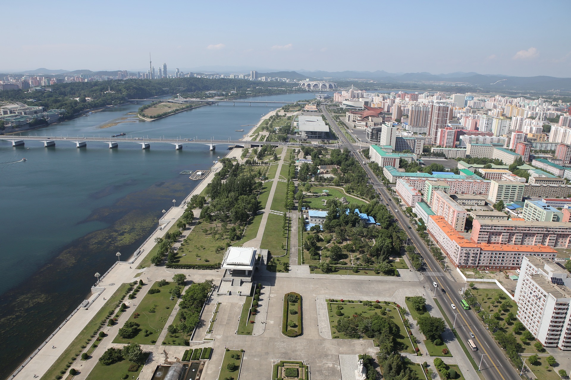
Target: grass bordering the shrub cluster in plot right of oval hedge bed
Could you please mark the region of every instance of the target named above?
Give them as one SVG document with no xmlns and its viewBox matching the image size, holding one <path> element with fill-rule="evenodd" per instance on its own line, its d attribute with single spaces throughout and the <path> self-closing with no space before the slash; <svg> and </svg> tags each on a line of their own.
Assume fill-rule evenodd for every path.
<svg viewBox="0 0 571 380">
<path fill-rule="evenodd" d="M 343 333 L 337 332 L 337 329 L 336 329 L 337 319 L 340 317 L 337 316 L 335 314 L 335 312 L 337 310 L 337 305 L 339 305 L 339 304 L 340 303 L 329 303 L 329 302 L 327 303 L 327 311 L 329 313 L 329 327 L 331 328 L 331 336 L 335 339 L 352 339 L 352 338 L 348 338 Z M 387 311 L 387 316 L 389 318 L 391 318 L 393 320 L 393 322 L 395 322 L 397 324 L 397 326 L 399 326 L 400 333 L 398 336 L 395 337 L 397 342 L 399 342 L 399 351 L 414 354 L 415 349 L 411 345 L 411 340 L 407 336 L 407 329 L 405 328 L 403 321 L 401 320 L 401 318 L 399 316 L 399 311 L 397 310 L 396 305 L 385 304 L 382 302 L 379 305 L 381 305 L 383 307 L 383 310 L 385 310 L 385 311 L 390 310 L 390 311 Z M 349 303 L 348 302 L 343 303 L 343 309 L 341 310 L 341 313 L 343 313 L 343 314 L 349 313 L 351 315 L 359 313 L 359 314 L 361 314 L 361 316 L 364 316 L 364 317 L 371 317 L 374 314 L 382 315 L 381 309 L 374 309 L 373 308 L 373 310 L 369 310 L 369 307 L 367 307 L 363 304 L 350 303 L 350 302 Z M 341 316 L 341 317 L 343 317 L 343 316 Z M 371 340 L 372 338 L 367 338 L 366 336 L 363 336 L 362 339 Z"/>
</svg>

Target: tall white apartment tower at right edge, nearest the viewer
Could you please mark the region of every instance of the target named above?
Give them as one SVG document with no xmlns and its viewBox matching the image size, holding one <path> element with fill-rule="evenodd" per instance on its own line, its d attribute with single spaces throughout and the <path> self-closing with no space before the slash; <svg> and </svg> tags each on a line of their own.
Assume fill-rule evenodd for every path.
<svg viewBox="0 0 571 380">
<path fill-rule="evenodd" d="M 514 301 L 517 318 L 545 347 L 571 350 L 571 279 L 552 260 L 524 257 Z"/>
</svg>

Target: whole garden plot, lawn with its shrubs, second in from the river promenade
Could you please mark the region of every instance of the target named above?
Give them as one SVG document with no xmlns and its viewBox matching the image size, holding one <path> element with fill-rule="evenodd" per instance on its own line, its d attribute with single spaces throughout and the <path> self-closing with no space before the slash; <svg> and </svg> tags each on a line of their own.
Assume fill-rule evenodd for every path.
<svg viewBox="0 0 571 380">
<path fill-rule="evenodd" d="M 155 281 L 113 342 L 155 344 L 176 304 L 171 292 L 177 287 L 180 293 L 179 285 L 174 282 Z"/>
</svg>

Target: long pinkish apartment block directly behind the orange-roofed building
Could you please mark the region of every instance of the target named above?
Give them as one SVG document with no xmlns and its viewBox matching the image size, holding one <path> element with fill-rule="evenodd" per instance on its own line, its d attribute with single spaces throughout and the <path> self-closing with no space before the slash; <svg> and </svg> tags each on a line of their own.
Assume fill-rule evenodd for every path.
<svg viewBox="0 0 571 380">
<path fill-rule="evenodd" d="M 571 224 L 530 220 L 473 220 L 473 242 L 567 248 Z"/>
</svg>

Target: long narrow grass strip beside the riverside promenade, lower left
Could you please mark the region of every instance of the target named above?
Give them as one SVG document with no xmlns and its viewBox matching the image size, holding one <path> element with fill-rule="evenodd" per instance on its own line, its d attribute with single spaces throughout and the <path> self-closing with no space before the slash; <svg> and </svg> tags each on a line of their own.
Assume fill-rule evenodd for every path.
<svg viewBox="0 0 571 380">
<path fill-rule="evenodd" d="M 59 375 L 59 371 L 65 369 L 67 362 L 69 362 L 75 354 L 82 352 L 83 348 L 81 346 L 85 345 L 85 342 L 91 339 L 91 334 L 95 332 L 103 320 L 106 320 L 109 310 L 115 310 L 115 305 L 121 300 L 121 297 L 126 295 L 127 288 L 130 286 L 131 284 L 129 283 L 119 285 L 119 288 L 117 288 L 115 293 L 109 297 L 103 307 L 95 314 L 93 318 L 91 318 L 91 321 L 89 321 L 85 328 L 81 330 L 81 332 L 77 335 L 77 337 L 75 337 L 70 345 L 67 346 L 61 356 L 56 359 L 53 365 L 51 365 L 50 369 L 47 370 L 45 374 L 43 374 L 40 380 L 54 379 L 57 375 Z"/>
</svg>

